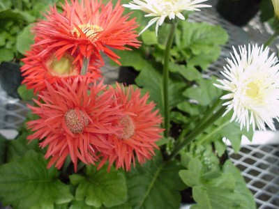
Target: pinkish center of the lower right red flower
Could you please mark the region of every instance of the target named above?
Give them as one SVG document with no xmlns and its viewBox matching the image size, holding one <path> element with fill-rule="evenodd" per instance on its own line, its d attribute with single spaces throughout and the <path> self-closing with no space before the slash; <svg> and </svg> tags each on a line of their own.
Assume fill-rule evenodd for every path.
<svg viewBox="0 0 279 209">
<path fill-rule="evenodd" d="M 120 118 L 119 125 L 123 127 L 123 129 L 117 134 L 119 139 L 129 139 L 135 134 L 135 125 L 130 116 L 126 115 Z"/>
</svg>

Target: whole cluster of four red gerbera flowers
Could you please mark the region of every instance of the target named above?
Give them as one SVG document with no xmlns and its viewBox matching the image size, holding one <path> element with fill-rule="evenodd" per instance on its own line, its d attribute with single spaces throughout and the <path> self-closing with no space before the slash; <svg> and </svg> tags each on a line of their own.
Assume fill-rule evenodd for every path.
<svg viewBox="0 0 279 209">
<path fill-rule="evenodd" d="M 22 59 L 27 88 L 38 93 L 36 106 L 29 105 L 39 119 L 29 121 L 28 139 L 39 139 L 47 148 L 48 167 L 60 169 L 70 155 L 75 171 L 78 161 L 116 164 L 130 170 L 153 157 L 163 130 L 162 118 L 149 95 L 140 89 L 100 82 L 104 52 L 116 63 L 112 49 L 139 47 L 135 20 L 116 6 L 98 0 L 68 1 L 63 12 L 50 8 L 33 27 L 35 44 Z"/>
</svg>

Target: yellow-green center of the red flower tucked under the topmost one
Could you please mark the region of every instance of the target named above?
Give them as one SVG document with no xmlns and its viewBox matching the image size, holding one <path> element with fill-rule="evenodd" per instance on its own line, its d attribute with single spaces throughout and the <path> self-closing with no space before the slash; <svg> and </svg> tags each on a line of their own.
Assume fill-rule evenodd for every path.
<svg viewBox="0 0 279 209">
<path fill-rule="evenodd" d="M 64 54 L 59 60 L 54 55 L 50 56 L 50 59 L 46 62 L 46 67 L 51 75 L 57 77 L 68 77 L 79 74 L 77 68 L 73 65 L 73 57 L 69 54 Z"/>
</svg>

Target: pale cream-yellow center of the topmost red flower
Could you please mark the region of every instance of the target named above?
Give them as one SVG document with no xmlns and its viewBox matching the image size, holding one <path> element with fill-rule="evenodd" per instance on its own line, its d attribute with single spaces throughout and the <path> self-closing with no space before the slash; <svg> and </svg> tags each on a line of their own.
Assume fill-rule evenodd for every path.
<svg viewBox="0 0 279 209">
<path fill-rule="evenodd" d="M 96 40 L 98 38 L 98 33 L 104 30 L 101 26 L 95 24 L 80 24 L 78 27 L 82 30 L 82 33 L 84 33 L 86 38 L 89 38 L 90 40 Z M 80 31 L 77 30 L 76 27 L 73 29 L 73 34 L 76 34 L 77 38 L 81 37 Z"/>
</svg>

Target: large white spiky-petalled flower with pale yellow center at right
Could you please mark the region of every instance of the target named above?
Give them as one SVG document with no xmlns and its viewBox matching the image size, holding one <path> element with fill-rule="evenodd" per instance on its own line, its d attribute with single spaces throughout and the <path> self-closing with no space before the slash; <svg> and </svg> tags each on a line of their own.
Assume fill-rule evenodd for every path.
<svg viewBox="0 0 279 209">
<path fill-rule="evenodd" d="M 239 47 L 239 53 L 233 47 L 232 59 L 227 59 L 227 65 L 221 72 L 225 79 L 218 79 L 218 88 L 228 91 L 221 99 L 229 100 L 227 114 L 233 109 L 231 121 L 243 126 L 252 125 L 252 129 L 276 130 L 273 119 L 279 116 L 279 64 L 276 54 L 269 53 L 269 48 L 262 45 Z M 270 54 L 270 55 L 269 55 Z M 224 115 L 225 115 L 224 114 Z"/>
</svg>

